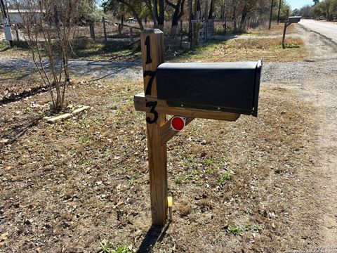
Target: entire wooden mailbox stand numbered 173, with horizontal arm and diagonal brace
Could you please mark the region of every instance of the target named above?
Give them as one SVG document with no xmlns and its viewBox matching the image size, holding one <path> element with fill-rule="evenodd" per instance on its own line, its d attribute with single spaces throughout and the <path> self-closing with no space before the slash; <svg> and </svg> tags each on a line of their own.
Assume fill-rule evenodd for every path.
<svg viewBox="0 0 337 253">
<path fill-rule="evenodd" d="M 158 29 L 144 30 L 140 41 L 145 92 L 134 96 L 134 105 L 136 110 L 146 112 L 152 225 L 164 226 L 168 213 L 166 143 L 178 133 L 171 129 L 171 119 L 167 120 L 166 115 L 185 117 L 187 125 L 196 117 L 233 122 L 240 114 L 170 106 L 159 99 L 156 72 L 164 63 L 164 33 Z"/>
</svg>

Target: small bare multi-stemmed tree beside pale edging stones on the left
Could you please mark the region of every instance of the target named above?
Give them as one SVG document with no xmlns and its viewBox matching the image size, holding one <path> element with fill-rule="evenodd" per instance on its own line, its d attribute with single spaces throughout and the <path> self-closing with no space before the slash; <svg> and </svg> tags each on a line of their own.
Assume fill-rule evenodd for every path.
<svg viewBox="0 0 337 253">
<path fill-rule="evenodd" d="M 53 110 L 65 105 L 70 82 L 68 60 L 79 18 L 79 0 L 16 0 L 23 35 L 42 82 L 48 86 Z"/>
</svg>

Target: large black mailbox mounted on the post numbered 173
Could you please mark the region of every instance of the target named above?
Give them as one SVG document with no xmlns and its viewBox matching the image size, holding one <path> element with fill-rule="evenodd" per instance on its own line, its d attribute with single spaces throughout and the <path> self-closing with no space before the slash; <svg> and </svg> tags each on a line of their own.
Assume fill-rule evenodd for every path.
<svg viewBox="0 0 337 253">
<path fill-rule="evenodd" d="M 163 63 L 157 97 L 169 106 L 258 115 L 262 62 Z"/>
</svg>

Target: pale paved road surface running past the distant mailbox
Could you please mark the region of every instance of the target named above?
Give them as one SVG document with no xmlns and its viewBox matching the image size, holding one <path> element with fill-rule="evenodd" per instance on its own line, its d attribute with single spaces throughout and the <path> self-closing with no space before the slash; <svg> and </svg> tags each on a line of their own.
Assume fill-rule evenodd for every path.
<svg viewBox="0 0 337 253">
<path fill-rule="evenodd" d="M 322 22 L 316 20 L 300 20 L 300 25 L 308 30 L 317 32 L 324 37 L 331 39 L 337 44 L 337 25 L 329 22 Z"/>
</svg>

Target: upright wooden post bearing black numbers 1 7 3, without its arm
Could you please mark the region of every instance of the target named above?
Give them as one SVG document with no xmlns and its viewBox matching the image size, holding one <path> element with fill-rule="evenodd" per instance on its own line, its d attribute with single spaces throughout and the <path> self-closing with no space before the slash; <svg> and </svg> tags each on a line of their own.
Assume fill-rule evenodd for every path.
<svg viewBox="0 0 337 253">
<path fill-rule="evenodd" d="M 155 72 L 164 63 L 164 33 L 161 30 L 144 30 L 140 34 L 146 98 L 157 98 Z M 150 195 L 152 225 L 164 226 L 167 219 L 167 154 L 166 143 L 161 143 L 161 126 L 166 124 L 166 115 L 157 113 L 157 102 L 146 103 L 147 148 L 149 154 Z"/>
</svg>

